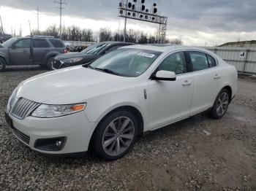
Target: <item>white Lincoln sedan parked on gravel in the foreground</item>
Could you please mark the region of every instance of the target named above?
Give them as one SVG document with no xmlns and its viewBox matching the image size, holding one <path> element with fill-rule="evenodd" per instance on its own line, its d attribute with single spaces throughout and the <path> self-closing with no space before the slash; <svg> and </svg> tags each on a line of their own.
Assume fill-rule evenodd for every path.
<svg viewBox="0 0 256 191">
<path fill-rule="evenodd" d="M 47 154 L 91 149 L 115 160 L 138 136 L 207 111 L 227 112 L 237 71 L 196 47 L 132 45 L 21 82 L 7 105 L 15 136 Z"/>
</svg>

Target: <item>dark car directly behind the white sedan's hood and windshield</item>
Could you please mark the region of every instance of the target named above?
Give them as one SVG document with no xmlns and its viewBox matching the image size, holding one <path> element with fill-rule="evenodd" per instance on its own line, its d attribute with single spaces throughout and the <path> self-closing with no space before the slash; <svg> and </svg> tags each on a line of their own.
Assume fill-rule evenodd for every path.
<svg viewBox="0 0 256 191">
<path fill-rule="evenodd" d="M 124 47 L 131 44 L 132 43 L 129 42 L 99 42 L 87 47 L 81 52 L 70 52 L 66 55 L 57 55 L 54 58 L 52 69 L 64 69 L 70 66 L 89 63 L 108 52 L 116 50 L 118 47 Z"/>
</svg>

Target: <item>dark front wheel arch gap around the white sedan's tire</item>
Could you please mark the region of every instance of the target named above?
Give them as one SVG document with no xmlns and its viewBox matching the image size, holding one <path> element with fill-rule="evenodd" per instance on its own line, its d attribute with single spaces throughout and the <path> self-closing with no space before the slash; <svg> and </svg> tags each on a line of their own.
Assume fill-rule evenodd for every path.
<svg viewBox="0 0 256 191">
<path fill-rule="evenodd" d="M 94 139 L 94 133 L 96 132 L 97 128 L 99 128 L 99 125 L 101 124 L 101 122 L 103 120 L 105 120 L 106 117 L 108 117 L 110 114 L 113 114 L 114 112 L 118 112 L 118 111 L 128 111 L 131 112 L 132 114 L 135 115 L 136 120 L 138 121 L 138 136 L 143 136 L 143 132 L 144 132 L 144 120 L 143 120 L 143 115 L 141 114 L 141 112 L 139 111 L 139 109 L 137 109 L 135 106 L 129 106 L 129 105 L 125 105 L 125 106 L 118 106 L 115 109 L 112 109 L 110 112 L 108 112 L 107 114 L 104 115 L 104 117 L 102 117 L 99 122 L 96 125 L 96 128 L 94 128 L 93 133 L 91 134 L 91 139 L 89 141 L 89 149 L 91 149 L 91 145 L 92 145 L 92 141 Z"/>
</svg>

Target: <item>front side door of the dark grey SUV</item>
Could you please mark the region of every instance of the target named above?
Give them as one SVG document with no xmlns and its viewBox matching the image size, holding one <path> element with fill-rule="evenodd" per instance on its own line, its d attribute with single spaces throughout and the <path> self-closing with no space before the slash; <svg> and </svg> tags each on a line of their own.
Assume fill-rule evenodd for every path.
<svg viewBox="0 0 256 191">
<path fill-rule="evenodd" d="M 9 47 L 12 65 L 28 65 L 31 61 L 31 39 L 20 39 Z"/>
</svg>

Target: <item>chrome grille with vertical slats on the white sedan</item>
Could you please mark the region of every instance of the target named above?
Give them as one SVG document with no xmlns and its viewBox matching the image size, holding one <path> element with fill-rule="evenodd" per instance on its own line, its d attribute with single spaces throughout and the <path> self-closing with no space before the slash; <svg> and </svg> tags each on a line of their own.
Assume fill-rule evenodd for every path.
<svg viewBox="0 0 256 191">
<path fill-rule="evenodd" d="M 31 112 L 34 111 L 34 109 L 39 106 L 37 102 L 29 101 L 26 98 L 20 98 L 15 106 L 13 106 L 11 114 L 14 117 L 18 117 L 20 120 L 23 120 L 25 117 L 27 117 Z"/>
</svg>

